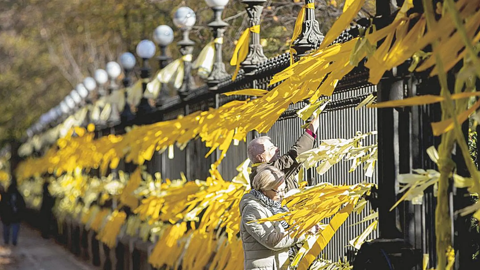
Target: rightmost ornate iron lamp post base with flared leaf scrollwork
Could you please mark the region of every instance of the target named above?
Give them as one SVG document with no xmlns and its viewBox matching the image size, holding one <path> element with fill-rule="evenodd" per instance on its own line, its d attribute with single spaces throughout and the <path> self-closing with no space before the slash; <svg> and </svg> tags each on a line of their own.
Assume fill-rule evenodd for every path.
<svg viewBox="0 0 480 270">
<path fill-rule="evenodd" d="M 314 3 L 315 0 L 305 0 L 305 5 Z M 320 32 L 320 24 L 315 19 L 314 9 L 305 9 L 305 18 L 303 19 L 301 33 L 293 41 L 293 48 L 297 51 L 297 56 L 305 56 L 307 52 L 317 48 L 324 40 L 324 34 Z"/>
</svg>

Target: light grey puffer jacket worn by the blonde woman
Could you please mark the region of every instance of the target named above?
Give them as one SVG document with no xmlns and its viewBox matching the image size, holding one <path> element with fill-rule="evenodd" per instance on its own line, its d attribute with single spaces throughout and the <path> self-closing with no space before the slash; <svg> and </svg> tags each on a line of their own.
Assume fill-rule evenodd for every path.
<svg viewBox="0 0 480 270">
<path fill-rule="evenodd" d="M 288 270 L 288 248 L 304 237 L 285 235 L 279 222 L 249 223 L 273 216 L 266 206 L 250 193 L 240 200 L 240 235 L 245 270 Z"/>
</svg>

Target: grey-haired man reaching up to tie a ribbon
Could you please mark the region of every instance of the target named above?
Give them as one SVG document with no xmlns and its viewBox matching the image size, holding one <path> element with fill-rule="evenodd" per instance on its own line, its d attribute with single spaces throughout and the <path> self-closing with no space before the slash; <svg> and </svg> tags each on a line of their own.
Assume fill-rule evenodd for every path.
<svg viewBox="0 0 480 270">
<path fill-rule="evenodd" d="M 271 165 L 282 170 L 285 174 L 286 191 L 298 188 L 299 183 L 295 176 L 300 171 L 300 163 L 297 162 L 297 156 L 313 148 L 313 142 L 317 137 L 315 133 L 318 125 L 318 117 L 315 117 L 292 148 L 282 156 L 280 156 L 280 149 L 270 141 L 269 137 L 263 136 L 253 139 L 247 146 L 247 154 L 252 162 L 250 182 L 252 183 L 258 171 L 265 166 Z"/>
</svg>

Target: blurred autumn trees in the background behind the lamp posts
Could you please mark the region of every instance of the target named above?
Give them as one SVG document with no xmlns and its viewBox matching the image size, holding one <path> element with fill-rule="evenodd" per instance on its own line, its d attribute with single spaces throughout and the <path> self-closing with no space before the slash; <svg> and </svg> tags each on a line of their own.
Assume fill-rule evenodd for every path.
<svg viewBox="0 0 480 270">
<path fill-rule="evenodd" d="M 316 0 L 316 16 L 326 33 L 341 14 L 344 0 Z M 2 0 L 0 1 L 0 145 L 20 139 L 32 123 L 97 68 L 151 38 L 159 24 L 171 25 L 173 12 L 187 5 L 197 15 L 193 55 L 211 40 L 205 25 L 212 12 L 203 0 Z M 267 57 L 285 52 L 303 1 L 268 0 L 262 15 Z M 359 16 L 372 14 L 369 0 Z M 231 0 L 224 12 L 230 24 L 223 47 L 228 62 L 247 27 L 244 5 Z M 180 40 L 180 31 L 175 31 Z M 168 53 L 180 56 L 175 42 Z M 151 61 L 153 70 L 158 68 Z M 138 70 L 137 70 L 138 71 Z M 231 70 L 230 70 L 231 71 Z M 138 73 L 138 72 L 136 72 Z"/>
</svg>

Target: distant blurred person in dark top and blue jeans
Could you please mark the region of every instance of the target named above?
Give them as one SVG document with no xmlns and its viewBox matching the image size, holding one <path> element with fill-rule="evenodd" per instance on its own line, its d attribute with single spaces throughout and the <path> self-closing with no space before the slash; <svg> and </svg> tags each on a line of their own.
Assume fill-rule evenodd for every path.
<svg viewBox="0 0 480 270">
<path fill-rule="evenodd" d="M 17 245 L 20 222 L 25 210 L 24 197 L 18 191 L 15 184 L 11 184 L 7 192 L 1 190 L 0 218 L 3 223 L 3 241 L 5 245 L 10 243 L 12 231 L 12 244 Z"/>
</svg>

